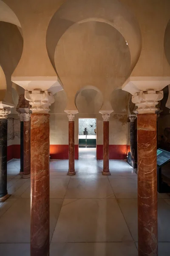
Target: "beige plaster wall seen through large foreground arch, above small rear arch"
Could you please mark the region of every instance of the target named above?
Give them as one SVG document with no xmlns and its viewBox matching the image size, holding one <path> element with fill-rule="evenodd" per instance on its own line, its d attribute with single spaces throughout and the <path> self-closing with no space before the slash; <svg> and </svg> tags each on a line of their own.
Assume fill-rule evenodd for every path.
<svg viewBox="0 0 170 256">
<path fill-rule="evenodd" d="M 77 91 L 90 85 L 102 92 L 102 109 L 110 110 L 113 89 L 122 86 L 130 71 L 130 51 L 125 38 L 102 22 L 71 26 L 60 38 L 54 59 L 68 97 L 67 109 L 75 108 Z"/>
</svg>

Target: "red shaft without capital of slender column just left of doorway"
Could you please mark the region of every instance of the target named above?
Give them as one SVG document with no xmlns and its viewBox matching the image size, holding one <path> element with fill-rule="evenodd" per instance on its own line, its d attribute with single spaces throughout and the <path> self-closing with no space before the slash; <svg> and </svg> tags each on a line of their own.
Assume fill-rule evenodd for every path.
<svg viewBox="0 0 170 256">
<path fill-rule="evenodd" d="M 74 160 L 75 160 L 74 121 L 68 122 L 68 151 L 69 151 L 68 175 L 75 175 L 75 169 L 74 169 Z"/>
</svg>

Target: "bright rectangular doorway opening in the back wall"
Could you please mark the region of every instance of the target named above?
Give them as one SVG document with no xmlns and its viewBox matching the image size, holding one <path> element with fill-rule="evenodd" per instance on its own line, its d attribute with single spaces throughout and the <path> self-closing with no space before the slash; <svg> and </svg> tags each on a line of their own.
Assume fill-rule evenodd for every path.
<svg viewBox="0 0 170 256">
<path fill-rule="evenodd" d="M 79 159 L 96 159 L 96 118 L 79 118 Z"/>
</svg>

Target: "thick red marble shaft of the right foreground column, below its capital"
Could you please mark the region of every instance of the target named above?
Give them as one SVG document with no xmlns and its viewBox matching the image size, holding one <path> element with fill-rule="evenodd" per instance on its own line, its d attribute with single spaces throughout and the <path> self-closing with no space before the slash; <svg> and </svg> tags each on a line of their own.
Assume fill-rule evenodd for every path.
<svg viewBox="0 0 170 256">
<path fill-rule="evenodd" d="M 138 251 L 158 256 L 156 114 L 137 115 Z"/>
</svg>

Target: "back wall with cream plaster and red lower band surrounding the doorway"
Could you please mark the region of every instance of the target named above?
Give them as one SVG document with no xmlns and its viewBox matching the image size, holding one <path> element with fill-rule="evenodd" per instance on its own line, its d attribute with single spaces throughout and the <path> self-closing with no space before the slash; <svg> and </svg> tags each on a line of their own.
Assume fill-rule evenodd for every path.
<svg viewBox="0 0 170 256">
<path fill-rule="evenodd" d="M 75 155 L 78 159 L 79 118 L 96 118 L 96 144 L 99 159 L 102 159 L 103 120 L 101 114 L 81 114 L 75 118 Z M 110 119 L 109 144 L 111 159 L 125 159 L 127 151 L 127 115 L 112 114 Z M 50 154 L 51 159 L 68 159 L 68 117 L 67 114 L 50 115 Z M 114 147 L 115 146 L 115 147 Z M 123 149 L 122 149 L 123 148 Z M 115 156 L 113 153 L 118 152 Z M 116 157 L 116 158 L 115 158 Z"/>
</svg>

